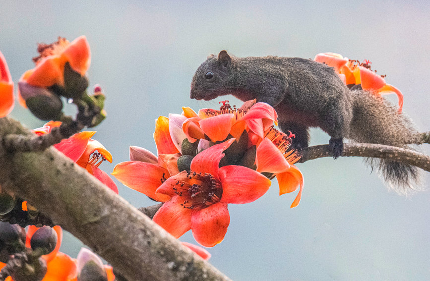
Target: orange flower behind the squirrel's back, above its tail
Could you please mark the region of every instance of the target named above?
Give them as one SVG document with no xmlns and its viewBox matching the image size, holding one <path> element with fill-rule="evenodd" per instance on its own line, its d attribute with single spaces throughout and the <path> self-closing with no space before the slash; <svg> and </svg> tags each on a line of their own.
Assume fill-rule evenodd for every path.
<svg viewBox="0 0 430 281">
<path fill-rule="evenodd" d="M 370 69 L 371 62 L 348 59 L 335 53 L 322 53 L 315 56 L 315 61 L 332 66 L 346 85 L 360 85 L 363 90 L 377 94 L 395 93 L 399 99 L 399 112 L 403 108 L 403 94 L 396 87 L 387 84 L 383 75 L 377 75 Z"/>
</svg>

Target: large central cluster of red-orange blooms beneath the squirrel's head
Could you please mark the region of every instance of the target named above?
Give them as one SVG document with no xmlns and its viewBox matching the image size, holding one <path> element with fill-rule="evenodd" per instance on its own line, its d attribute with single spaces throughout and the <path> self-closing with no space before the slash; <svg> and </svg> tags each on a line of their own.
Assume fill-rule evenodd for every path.
<svg viewBox="0 0 430 281">
<path fill-rule="evenodd" d="M 280 194 L 300 191 L 302 173 L 290 136 L 276 130 L 277 113 L 265 103 L 246 102 L 241 108 L 226 102 L 220 110 L 160 116 L 154 140 L 158 157 L 130 147 L 130 160 L 112 173 L 124 185 L 164 202 L 153 220 L 175 237 L 192 231 L 196 241 L 220 243 L 230 224 L 228 204 L 260 198 L 278 178 Z M 270 179 L 269 179 L 270 178 Z"/>
</svg>

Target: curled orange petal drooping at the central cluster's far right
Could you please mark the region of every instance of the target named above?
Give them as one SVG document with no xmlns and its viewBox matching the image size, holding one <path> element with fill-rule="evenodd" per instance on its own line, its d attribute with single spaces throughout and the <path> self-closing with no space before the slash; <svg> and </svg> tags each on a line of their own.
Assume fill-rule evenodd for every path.
<svg viewBox="0 0 430 281">
<path fill-rule="evenodd" d="M 296 166 L 291 165 L 291 168 L 283 173 L 279 173 L 276 175 L 279 183 L 279 195 L 296 191 L 300 186 L 299 193 L 294 199 L 293 204 L 291 204 L 291 208 L 297 207 L 302 198 L 302 191 L 304 185 L 304 179 L 302 172 L 297 169 Z"/>
</svg>

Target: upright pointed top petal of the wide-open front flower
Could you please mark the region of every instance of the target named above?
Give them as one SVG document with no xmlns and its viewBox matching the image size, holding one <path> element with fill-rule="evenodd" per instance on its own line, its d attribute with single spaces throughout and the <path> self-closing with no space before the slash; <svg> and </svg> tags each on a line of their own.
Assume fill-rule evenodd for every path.
<svg viewBox="0 0 430 281">
<path fill-rule="evenodd" d="M 220 144 L 209 147 L 206 150 L 198 153 L 191 161 L 190 169 L 197 173 L 210 173 L 211 175 L 218 176 L 218 165 L 221 158 L 224 157 L 224 150 L 230 147 L 235 141 L 234 138 L 229 139 Z"/>
</svg>

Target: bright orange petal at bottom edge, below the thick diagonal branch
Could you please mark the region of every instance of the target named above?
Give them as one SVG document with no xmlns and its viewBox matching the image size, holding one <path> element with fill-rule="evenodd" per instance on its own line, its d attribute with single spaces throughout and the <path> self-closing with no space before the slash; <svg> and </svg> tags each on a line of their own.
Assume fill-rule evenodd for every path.
<svg viewBox="0 0 430 281">
<path fill-rule="evenodd" d="M 64 253 L 58 252 L 47 264 L 47 272 L 42 281 L 71 281 L 77 277 L 75 261 Z"/>
</svg>

